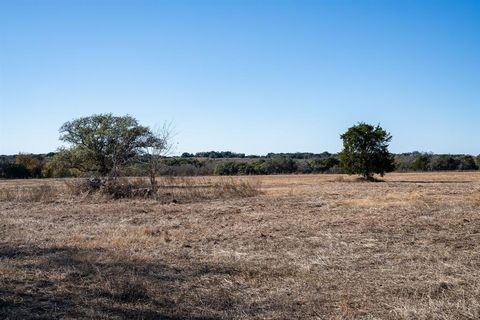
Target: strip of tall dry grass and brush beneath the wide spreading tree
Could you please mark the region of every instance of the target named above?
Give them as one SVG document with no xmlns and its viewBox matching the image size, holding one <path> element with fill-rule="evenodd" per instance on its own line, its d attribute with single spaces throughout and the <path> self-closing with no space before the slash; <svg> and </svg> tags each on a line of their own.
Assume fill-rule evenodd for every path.
<svg viewBox="0 0 480 320">
<path fill-rule="evenodd" d="M 43 180 L 42 180 L 43 181 Z M 254 197 L 261 193 L 258 181 L 235 178 L 162 177 L 153 195 L 145 178 L 66 179 L 63 185 L 45 182 L 26 186 L 0 186 L 0 201 L 52 202 L 64 200 L 156 199 L 163 202 L 192 202 Z"/>
</svg>

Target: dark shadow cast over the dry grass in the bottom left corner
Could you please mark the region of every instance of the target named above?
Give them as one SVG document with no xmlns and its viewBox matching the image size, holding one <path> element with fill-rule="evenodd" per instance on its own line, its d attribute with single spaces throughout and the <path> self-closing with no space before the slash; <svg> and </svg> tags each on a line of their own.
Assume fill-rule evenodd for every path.
<svg viewBox="0 0 480 320">
<path fill-rule="evenodd" d="M 0 244 L 1 319 L 220 319 L 255 313 L 212 283 L 224 265 L 145 262 L 99 249 Z M 3 269 L 3 270 L 2 270 Z"/>
</svg>

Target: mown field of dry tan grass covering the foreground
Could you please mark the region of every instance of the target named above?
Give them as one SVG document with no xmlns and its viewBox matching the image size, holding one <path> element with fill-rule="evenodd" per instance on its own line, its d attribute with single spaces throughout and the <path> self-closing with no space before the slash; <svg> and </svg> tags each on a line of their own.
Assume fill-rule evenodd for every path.
<svg viewBox="0 0 480 320">
<path fill-rule="evenodd" d="M 0 181 L 0 318 L 479 319 L 480 174 L 384 180 Z"/>
</svg>

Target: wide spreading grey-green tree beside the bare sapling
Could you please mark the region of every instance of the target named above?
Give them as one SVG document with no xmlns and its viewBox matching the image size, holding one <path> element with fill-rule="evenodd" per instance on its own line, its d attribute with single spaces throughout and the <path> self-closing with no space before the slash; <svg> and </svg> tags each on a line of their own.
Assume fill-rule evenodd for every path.
<svg viewBox="0 0 480 320">
<path fill-rule="evenodd" d="M 60 140 L 70 144 L 70 160 L 77 167 L 113 177 L 155 141 L 150 129 L 133 117 L 110 113 L 66 122 L 60 133 Z"/>
</svg>

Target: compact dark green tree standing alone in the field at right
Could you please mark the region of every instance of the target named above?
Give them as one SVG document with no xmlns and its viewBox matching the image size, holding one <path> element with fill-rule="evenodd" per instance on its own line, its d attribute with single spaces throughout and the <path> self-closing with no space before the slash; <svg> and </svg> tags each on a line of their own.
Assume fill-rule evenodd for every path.
<svg viewBox="0 0 480 320">
<path fill-rule="evenodd" d="M 383 176 L 394 170 L 393 155 L 388 151 L 392 136 L 379 125 L 361 122 L 340 137 L 343 139 L 340 166 L 345 173 L 361 174 L 373 180 L 375 173 Z"/>
</svg>

